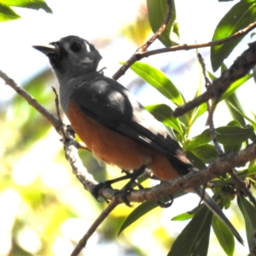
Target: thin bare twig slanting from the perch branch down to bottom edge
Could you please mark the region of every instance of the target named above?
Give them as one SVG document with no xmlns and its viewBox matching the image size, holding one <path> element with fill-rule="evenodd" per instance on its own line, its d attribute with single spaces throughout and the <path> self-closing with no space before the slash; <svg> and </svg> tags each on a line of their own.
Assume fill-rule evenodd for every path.
<svg viewBox="0 0 256 256">
<path fill-rule="evenodd" d="M 113 211 L 115 207 L 119 205 L 119 201 L 115 198 L 113 198 L 113 201 L 111 201 L 108 204 L 108 207 L 106 207 L 103 212 L 96 218 L 93 224 L 90 225 L 89 230 L 87 230 L 86 234 L 83 236 L 83 238 L 79 241 L 78 245 L 74 248 L 73 253 L 71 253 L 70 256 L 77 256 L 82 251 L 82 249 L 85 247 L 88 239 L 90 236 L 93 235 L 93 233 L 96 231 L 96 229 L 99 227 L 100 224 L 108 217 L 109 213 Z"/>
</svg>

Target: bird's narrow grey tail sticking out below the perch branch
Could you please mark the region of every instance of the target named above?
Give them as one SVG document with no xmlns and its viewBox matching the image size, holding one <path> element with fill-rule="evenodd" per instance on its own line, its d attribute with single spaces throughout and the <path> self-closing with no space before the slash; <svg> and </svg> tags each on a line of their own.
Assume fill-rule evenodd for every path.
<svg viewBox="0 0 256 256">
<path fill-rule="evenodd" d="M 195 193 L 199 195 L 206 206 L 215 214 L 233 233 L 234 236 L 236 236 L 236 239 L 241 242 L 243 245 L 243 240 L 235 227 L 230 223 L 230 220 L 224 215 L 224 212 L 222 212 L 221 208 L 218 206 L 218 204 L 212 199 L 210 195 L 207 194 L 207 191 L 204 191 L 203 187 L 197 187 L 194 189 Z"/>
</svg>

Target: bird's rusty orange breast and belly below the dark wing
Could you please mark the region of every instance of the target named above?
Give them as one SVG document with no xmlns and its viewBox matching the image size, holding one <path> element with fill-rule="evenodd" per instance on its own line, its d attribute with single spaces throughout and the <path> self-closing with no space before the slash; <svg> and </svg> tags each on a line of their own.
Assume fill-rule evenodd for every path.
<svg viewBox="0 0 256 256">
<path fill-rule="evenodd" d="M 165 154 L 90 119 L 73 101 L 67 117 L 73 130 L 97 159 L 125 170 L 137 170 L 146 165 L 162 180 L 178 177 Z"/>
</svg>

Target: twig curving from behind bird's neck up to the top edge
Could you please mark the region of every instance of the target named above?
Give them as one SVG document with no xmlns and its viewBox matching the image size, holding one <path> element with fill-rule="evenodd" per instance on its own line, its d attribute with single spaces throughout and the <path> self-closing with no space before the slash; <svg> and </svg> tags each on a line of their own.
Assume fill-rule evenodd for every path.
<svg viewBox="0 0 256 256">
<path fill-rule="evenodd" d="M 136 53 L 134 55 L 131 55 L 129 60 L 127 60 L 125 64 L 122 67 L 120 67 L 116 73 L 113 74 L 113 77 L 112 77 L 113 79 L 115 80 L 119 79 L 119 77 L 124 75 L 126 70 L 129 67 L 131 67 L 133 63 L 142 59 L 142 55 L 147 51 L 149 45 L 153 44 L 157 38 L 160 38 L 161 34 L 166 30 L 166 26 L 168 22 L 171 20 L 171 18 L 172 18 L 172 1 L 167 0 L 167 13 L 160 28 L 157 30 L 157 32 L 154 33 L 154 35 L 151 38 L 148 39 L 146 44 L 143 44 L 141 47 L 139 47 Z"/>
</svg>

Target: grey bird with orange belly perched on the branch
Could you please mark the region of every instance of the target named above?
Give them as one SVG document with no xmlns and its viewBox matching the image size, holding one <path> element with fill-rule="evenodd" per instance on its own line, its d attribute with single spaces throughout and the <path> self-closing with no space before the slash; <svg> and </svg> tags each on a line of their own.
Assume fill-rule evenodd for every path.
<svg viewBox="0 0 256 256">
<path fill-rule="evenodd" d="M 97 71 L 102 55 L 93 44 L 77 36 L 49 44 L 33 47 L 49 58 L 60 86 L 61 108 L 97 160 L 138 174 L 148 168 L 161 181 L 197 170 L 166 126 L 154 119 L 136 96 Z M 203 187 L 192 190 L 243 244 Z"/>
</svg>

